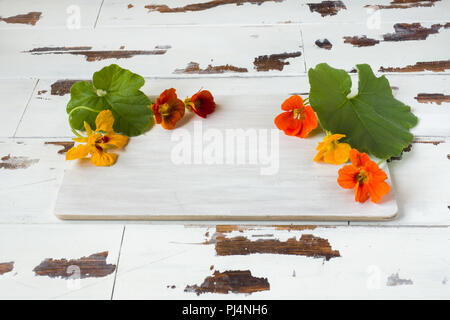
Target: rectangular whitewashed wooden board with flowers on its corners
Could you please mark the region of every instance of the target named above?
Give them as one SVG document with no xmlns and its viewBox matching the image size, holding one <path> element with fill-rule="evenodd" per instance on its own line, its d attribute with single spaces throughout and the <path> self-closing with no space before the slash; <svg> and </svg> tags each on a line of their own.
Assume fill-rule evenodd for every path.
<svg viewBox="0 0 450 320">
<path fill-rule="evenodd" d="M 353 190 L 342 189 L 336 182 L 342 166 L 312 160 L 323 133 L 300 139 L 276 129 L 273 119 L 281 112 L 280 105 L 286 95 L 215 98 L 216 112 L 207 119 L 187 112 L 175 130 L 155 125 L 145 135 L 132 138 L 112 167 L 95 167 L 88 161 L 68 162 L 55 214 L 62 219 L 125 220 L 385 220 L 395 217 L 397 203 L 390 179 L 391 192 L 379 204 L 356 203 Z M 248 140 L 244 143 L 236 140 L 234 147 L 227 144 L 227 139 L 236 133 L 234 129 L 256 134 L 256 143 L 250 147 Z M 267 158 L 258 155 L 264 145 L 267 145 L 266 154 L 273 155 L 271 165 Z M 187 153 L 176 152 L 182 146 L 184 151 L 191 150 L 191 163 L 186 163 Z M 200 147 L 204 153 L 216 150 L 218 156 L 202 157 L 205 154 L 199 151 Z M 245 159 L 241 159 L 243 163 L 237 163 L 236 158 L 227 159 L 230 150 L 235 156 L 246 152 Z M 174 158 L 174 153 L 186 158 Z M 249 153 L 256 154 L 251 163 Z M 211 164 L 208 160 L 219 163 Z M 270 166 L 272 169 L 268 169 Z M 389 176 L 387 166 L 384 170 Z"/>
</svg>

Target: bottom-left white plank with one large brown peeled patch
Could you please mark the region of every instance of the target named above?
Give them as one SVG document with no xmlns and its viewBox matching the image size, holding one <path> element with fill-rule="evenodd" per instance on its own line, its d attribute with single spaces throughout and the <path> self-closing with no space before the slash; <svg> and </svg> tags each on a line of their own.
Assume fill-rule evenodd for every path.
<svg viewBox="0 0 450 320">
<path fill-rule="evenodd" d="M 122 226 L 0 226 L 1 299 L 109 299 Z"/>
</svg>

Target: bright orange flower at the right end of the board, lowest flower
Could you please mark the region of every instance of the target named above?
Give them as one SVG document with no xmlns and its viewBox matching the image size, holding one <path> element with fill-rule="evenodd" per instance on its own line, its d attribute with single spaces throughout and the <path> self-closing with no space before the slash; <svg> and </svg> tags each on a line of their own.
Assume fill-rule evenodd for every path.
<svg viewBox="0 0 450 320">
<path fill-rule="evenodd" d="M 372 202 L 389 193 L 391 187 L 384 181 L 386 173 L 370 160 L 367 153 L 360 153 L 356 149 L 350 150 L 351 165 L 339 170 L 337 179 L 339 185 L 345 189 L 355 189 L 355 201 L 365 202 L 372 198 Z"/>
</svg>

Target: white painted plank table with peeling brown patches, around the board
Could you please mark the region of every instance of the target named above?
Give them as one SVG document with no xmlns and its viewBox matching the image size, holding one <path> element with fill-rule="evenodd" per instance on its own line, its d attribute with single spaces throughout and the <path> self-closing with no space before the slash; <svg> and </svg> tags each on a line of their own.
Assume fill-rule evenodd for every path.
<svg viewBox="0 0 450 320">
<path fill-rule="evenodd" d="M 237 2 L 0 1 L 0 298 L 450 298 L 450 1 Z M 324 61 L 349 72 L 369 63 L 420 119 L 411 151 L 389 164 L 397 219 L 52 214 L 71 137 L 65 80 L 119 63 L 147 78 L 150 95 L 204 86 L 250 96 L 261 83 L 287 96 L 308 92 L 307 69 Z M 201 291 L 215 271 L 244 276 L 228 295 Z"/>
</svg>

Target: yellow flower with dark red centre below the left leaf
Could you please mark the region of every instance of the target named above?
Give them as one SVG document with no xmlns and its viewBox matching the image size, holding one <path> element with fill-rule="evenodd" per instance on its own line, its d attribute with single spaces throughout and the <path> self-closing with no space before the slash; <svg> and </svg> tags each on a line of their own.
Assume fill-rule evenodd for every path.
<svg viewBox="0 0 450 320">
<path fill-rule="evenodd" d="M 114 117 L 111 110 L 103 110 L 95 120 L 93 131 L 85 121 L 87 137 L 73 138 L 76 142 L 86 143 L 71 148 L 66 154 L 66 160 L 86 158 L 91 154 L 91 162 L 96 166 L 112 166 L 117 160 L 117 154 L 106 152 L 109 149 L 120 149 L 128 143 L 128 137 L 116 134 L 113 130 Z"/>
</svg>

